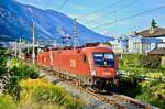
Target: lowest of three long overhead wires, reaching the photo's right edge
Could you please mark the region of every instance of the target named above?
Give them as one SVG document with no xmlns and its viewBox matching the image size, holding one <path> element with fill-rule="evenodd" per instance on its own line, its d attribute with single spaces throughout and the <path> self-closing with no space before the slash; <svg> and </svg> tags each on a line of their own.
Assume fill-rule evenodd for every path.
<svg viewBox="0 0 165 109">
<path fill-rule="evenodd" d="M 145 14 L 145 13 L 148 13 L 148 12 L 152 12 L 152 11 L 156 11 L 156 10 L 160 10 L 160 9 L 163 9 L 163 8 L 165 8 L 165 4 L 160 6 L 160 7 L 157 7 L 157 8 L 154 8 L 154 9 L 151 9 L 151 10 L 147 10 L 147 11 L 142 11 L 142 12 L 132 14 L 132 15 L 130 15 L 130 17 L 125 17 L 125 18 L 119 19 L 119 20 L 113 21 L 113 22 L 109 22 L 109 23 L 106 23 L 106 24 L 102 24 L 102 25 L 99 25 L 99 26 L 95 26 L 95 28 L 92 28 L 92 29 L 98 29 L 98 28 L 111 25 L 111 24 L 114 24 L 114 23 L 117 23 L 117 22 L 125 21 L 125 20 L 128 20 L 128 19 L 135 18 L 135 17 L 142 15 L 142 14 Z"/>
</svg>

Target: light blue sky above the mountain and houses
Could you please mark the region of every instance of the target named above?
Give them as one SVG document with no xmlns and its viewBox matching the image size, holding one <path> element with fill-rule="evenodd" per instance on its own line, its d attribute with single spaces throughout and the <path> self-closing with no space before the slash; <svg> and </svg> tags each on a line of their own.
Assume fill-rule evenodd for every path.
<svg viewBox="0 0 165 109">
<path fill-rule="evenodd" d="M 132 14 L 142 11 L 146 11 L 160 6 L 165 6 L 165 0 L 68 0 L 68 2 L 61 10 L 57 9 L 63 4 L 65 0 L 16 0 L 16 1 L 25 4 L 31 4 L 44 10 L 45 9 L 56 10 L 65 13 L 70 18 L 75 17 L 79 18 L 78 19 L 79 23 L 102 34 L 105 33 L 110 35 L 131 34 L 132 31 L 141 31 L 144 29 L 148 29 L 152 19 L 156 20 L 158 26 L 165 28 L 165 7 L 164 7 L 163 9 L 152 11 L 147 14 L 128 19 L 122 22 L 117 22 L 111 25 L 94 29 L 95 26 L 99 26 L 100 24 L 113 22 L 114 20 L 117 21 L 119 19 L 130 17 Z M 45 8 L 45 4 L 48 1 L 50 3 Z M 113 7 L 99 11 L 96 14 L 87 15 L 90 12 L 110 6 L 114 2 L 118 3 L 116 3 Z M 119 10 L 124 6 L 129 7 Z M 114 12 L 114 10 L 117 11 Z M 96 22 L 88 23 L 89 21 L 108 12 L 110 14 L 102 17 Z"/>
</svg>

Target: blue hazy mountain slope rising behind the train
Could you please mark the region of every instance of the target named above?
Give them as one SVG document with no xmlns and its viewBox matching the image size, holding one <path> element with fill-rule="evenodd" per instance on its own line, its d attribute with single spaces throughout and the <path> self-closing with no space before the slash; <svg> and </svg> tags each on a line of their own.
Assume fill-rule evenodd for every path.
<svg viewBox="0 0 165 109">
<path fill-rule="evenodd" d="M 42 10 L 32 6 L 19 3 L 14 0 L 2 0 L 0 3 L 0 40 L 15 40 L 20 36 L 31 41 L 32 21 L 35 22 L 35 36 L 38 41 L 62 41 L 63 35 L 73 36 L 74 20 L 67 15 L 53 11 Z M 92 32 L 78 23 L 78 41 L 106 42 L 113 40 Z"/>
</svg>

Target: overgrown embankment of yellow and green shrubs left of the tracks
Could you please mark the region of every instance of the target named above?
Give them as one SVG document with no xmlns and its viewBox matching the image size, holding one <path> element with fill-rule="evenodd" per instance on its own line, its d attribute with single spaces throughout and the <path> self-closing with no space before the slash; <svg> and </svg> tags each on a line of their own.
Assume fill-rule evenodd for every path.
<svg viewBox="0 0 165 109">
<path fill-rule="evenodd" d="M 6 51 L 3 51 L 6 52 Z M 38 70 L 32 65 L 0 56 L 0 78 L 4 83 L 0 95 L 0 109 L 79 109 L 84 102 L 64 88 L 38 78 Z"/>
</svg>

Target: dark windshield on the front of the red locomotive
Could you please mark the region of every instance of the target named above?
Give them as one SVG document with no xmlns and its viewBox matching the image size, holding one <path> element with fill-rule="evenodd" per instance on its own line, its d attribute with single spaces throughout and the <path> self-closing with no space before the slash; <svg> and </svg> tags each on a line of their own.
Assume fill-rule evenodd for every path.
<svg viewBox="0 0 165 109">
<path fill-rule="evenodd" d="M 114 55 L 111 53 L 94 53 L 92 56 L 97 66 L 114 66 Z"/>
</svg>

